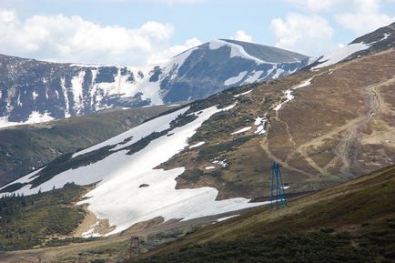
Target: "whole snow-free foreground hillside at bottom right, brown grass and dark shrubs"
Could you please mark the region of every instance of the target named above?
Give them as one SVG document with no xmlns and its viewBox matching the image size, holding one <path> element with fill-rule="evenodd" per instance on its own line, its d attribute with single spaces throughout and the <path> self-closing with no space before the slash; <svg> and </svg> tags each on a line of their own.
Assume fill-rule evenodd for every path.
<svg viewBox="0 0 395 263">
<path fill-rule="evenodd" d="M 394 262 L 393 200 L 395 166 L 204 228 L 137 262 Z"/>
</svg>

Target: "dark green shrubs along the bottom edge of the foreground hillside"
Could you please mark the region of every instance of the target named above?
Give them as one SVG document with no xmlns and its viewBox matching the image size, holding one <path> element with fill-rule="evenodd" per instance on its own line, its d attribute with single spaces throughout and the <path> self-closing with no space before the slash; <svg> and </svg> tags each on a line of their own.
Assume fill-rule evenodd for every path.
<svg viewBox="0 0 395 263">
<path fill-rule="evenodd" d="M 379 242 L 378 242 L 379 240 Z M 251 237 L 182 248 L 178 253 L 142 259 L 140 263 L 226 262 L 393 262 L 395 229 L 370 233 L 351 244 L 349 233 L 322 232 Z"/>
</svg>

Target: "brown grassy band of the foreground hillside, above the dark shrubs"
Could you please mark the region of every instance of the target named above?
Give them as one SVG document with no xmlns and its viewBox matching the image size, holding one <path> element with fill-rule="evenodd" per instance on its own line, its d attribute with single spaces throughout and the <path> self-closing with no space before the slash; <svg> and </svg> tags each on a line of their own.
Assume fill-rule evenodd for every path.
<svg viewBox="0 0 395 263">
<path fill-rule="evenodd" d="M 385 167 L 336 187 L 289 202 L 289 207 L 268 207 L 235 217 L 157 248 L 143 258 L 176 252 L 191 245 L 257 236 L 305 233 L 320 228 L 349 231 L 354 236 L 374 231 L 395 217 L 395 166 Z"/>
</svg>

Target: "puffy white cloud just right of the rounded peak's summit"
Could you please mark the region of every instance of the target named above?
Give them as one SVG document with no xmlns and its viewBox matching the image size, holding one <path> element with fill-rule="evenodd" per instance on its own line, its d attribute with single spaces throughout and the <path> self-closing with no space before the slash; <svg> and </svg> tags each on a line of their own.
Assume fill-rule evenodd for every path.
<svg viewBox="0 0 395 263">
<path fill-rule="evenodd" d="M 331 42 L 333 28 L 319 15 L 289 14 L 285 20 L 273 19 L 271 29 L 276 46 L 309 56 L 327 54 L 336 47 Z"/>
</svg>

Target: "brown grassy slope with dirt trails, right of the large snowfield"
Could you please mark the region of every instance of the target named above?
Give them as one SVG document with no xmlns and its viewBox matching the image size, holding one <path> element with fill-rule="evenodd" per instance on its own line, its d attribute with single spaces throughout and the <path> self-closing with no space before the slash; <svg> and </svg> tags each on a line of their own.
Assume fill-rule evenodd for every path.
<svg viewBox="0 0 395 263">
<path fill-rule="evenodd" d="M 228 112 L 211 117 L 190 139 L 206 144 L 186 149 L 162 167 L 185 166 L 177 187 L 216 187 L 218 199 L 268 194 L 273 160 L 282 166 L 292 192 L 332 186 L 395 162 L 395 51 L 301 72 L 258 85 L 237 98 Z M 295 99 L 273 110 L 282 92 L 313 77 L 295 90 Z M 268 134 L 256 136 L 254 119 L 268 117 Z M 242 134 L 232 132 L 245 126 Z M 227 159 L 228 167 L 213 158 Z M 196 172 L 196 169 L 199 172 Z M 190 171 L 194 179 L 190 180 Z"/>
</svg>

